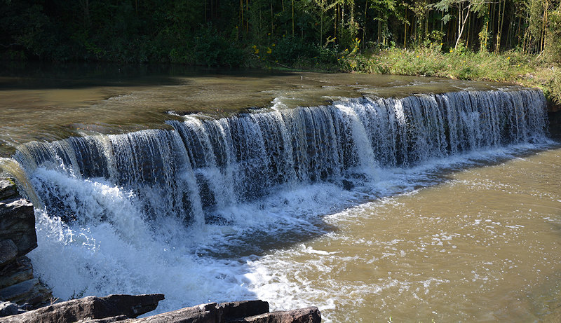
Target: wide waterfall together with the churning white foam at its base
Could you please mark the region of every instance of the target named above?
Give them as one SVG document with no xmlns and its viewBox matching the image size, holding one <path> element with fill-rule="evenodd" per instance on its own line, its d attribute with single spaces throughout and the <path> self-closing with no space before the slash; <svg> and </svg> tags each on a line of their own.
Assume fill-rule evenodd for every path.
<svg viewBox="0 0 561 323">
<path fill-rule="evenodd" d="M 277 102 L 25 144 L 13 158 L 41 201 L 30 256 L 61 299 L 163 293 L 162 312 L 256 298 L 259 257 L 327 232 L 323 216 L 546 144 L 545 104 L 530 89 Z"/>
</svg>

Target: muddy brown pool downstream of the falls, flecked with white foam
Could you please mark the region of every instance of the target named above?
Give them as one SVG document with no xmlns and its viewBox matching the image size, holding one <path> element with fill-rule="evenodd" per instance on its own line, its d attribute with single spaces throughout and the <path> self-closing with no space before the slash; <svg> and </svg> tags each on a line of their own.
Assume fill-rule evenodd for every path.
<svg viewBox="0 0 561 323">
<path fill-rule="evenodd" d="M 325 221 L 334 232 L 256 261 L 260 297 L 306 298 L 332 322 L 560 322 L 561 149 Z"/>
</svg>

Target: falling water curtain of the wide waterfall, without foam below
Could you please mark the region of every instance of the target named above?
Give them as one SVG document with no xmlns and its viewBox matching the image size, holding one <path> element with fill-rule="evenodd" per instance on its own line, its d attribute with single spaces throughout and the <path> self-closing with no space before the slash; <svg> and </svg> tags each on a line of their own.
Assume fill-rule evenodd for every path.
<svg viewBox="0 0 561 323">
<path fill-rule="evenodd" d="M 38 168 L 126 188 L 147 217 L 219 221 L 218 209 L 278 186 L 376 181 L 385 167 L 543 141 L 539 90 L 449 92 L 403 99 L 342 99 L 328 106 L 262 109 L 227 118 L 184 116 L 174 130 L 32 142 L 14 158 Z M 36 178 L 46 209 L 66 221 L 79 198 Z"/>
</svg>

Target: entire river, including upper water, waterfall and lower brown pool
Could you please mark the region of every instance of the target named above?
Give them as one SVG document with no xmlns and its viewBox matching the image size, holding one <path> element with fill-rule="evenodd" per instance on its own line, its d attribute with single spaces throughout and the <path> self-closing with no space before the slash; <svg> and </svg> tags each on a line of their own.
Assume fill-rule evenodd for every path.
<svg viewBox="0 0 561 323">
<path fill-rule="evenodd" d="M 561 318 L 561 148 L 537 90 L 109 66 L 6 74 L 0 98 L 0 166 L 34 201 L 30 257 L 61 299 Z"/>
</svg>

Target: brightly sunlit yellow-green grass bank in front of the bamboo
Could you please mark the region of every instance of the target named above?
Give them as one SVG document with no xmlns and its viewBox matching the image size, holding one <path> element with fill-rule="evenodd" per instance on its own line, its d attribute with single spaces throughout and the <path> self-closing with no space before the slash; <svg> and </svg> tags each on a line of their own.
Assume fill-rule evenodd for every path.
<svg viewBox="0 0 561 323">
<path fill-rule="evenodd" d="M 460 47 L 444 53 L 440 44 L 430 44 L 414 50 L 391 48 L 342 55 L 340 62 L 341 70 L 350 72 L 518 83 L 541 88 L 551 104 L 561 105 L 560 64 L 514 50 L 474 53 Z"/>
</svg>

